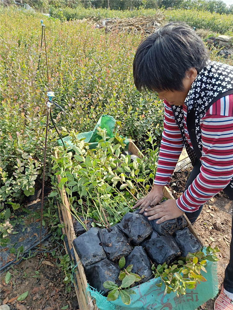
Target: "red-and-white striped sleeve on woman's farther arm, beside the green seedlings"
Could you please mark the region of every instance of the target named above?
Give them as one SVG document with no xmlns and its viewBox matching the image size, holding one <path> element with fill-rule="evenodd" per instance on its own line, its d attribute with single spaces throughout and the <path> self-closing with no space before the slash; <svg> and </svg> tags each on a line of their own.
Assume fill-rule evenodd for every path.
<svg viewBox="0 0 233 310">
<path fill-rule="evenodd" d="M 171 106 L 164 100 L 164 131 L 154 184 L 169 185 L 183 146 L 183 138 L 176 125 Z"/>
</svg>

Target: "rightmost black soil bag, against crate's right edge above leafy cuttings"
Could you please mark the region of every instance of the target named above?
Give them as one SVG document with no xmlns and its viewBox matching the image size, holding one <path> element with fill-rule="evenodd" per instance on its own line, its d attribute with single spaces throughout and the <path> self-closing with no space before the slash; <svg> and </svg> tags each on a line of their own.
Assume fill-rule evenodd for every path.
<svg viewBox="0 0 233 310">
<path fill-rule="evenodd" d="M 177 230 L 173 234 L 177 245 L 180 248 L 181 256 L 186 257 L 189 252 L 195 253 L 201 250 L 202 246 L 188 228 Z"/>
</svg>

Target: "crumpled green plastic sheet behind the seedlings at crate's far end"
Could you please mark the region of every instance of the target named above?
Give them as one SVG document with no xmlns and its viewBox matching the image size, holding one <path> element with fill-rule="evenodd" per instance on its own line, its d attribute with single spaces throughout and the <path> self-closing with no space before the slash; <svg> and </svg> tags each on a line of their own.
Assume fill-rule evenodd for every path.
<svg viewBox="0 0 233 310">
<path fill-rule="evenodd" d="M 116 124 L 116 120 L 115 120 L 114 117 L 112 117 L 111 115 L 103 114 L 99 118 L 97 124 L 95 125 L 94 130 L 86 131 L 86 132 L 81 132 L 81 133 L 79 133 L 77 135 L 77 138 L 79 140 L 85 138 L 84 141 L 90 143 L 90 145 L 89 145 L 90 149 L 96 148 L 98 146 L 98 141 L 100 139 L 102 139 L 101 136 L 97 134 L 97 128 L 98 127 L 100 127 L 101 129 L 106 128 L 107 129 L 107 136 L 110 139 L 110 138 L 114 137 L 113 130 L 114 130 L 115 124 Z M 68 149 L 72 149 L 73 148 L 74 144 L 71 142 L 71 137 L 70 136 L 67 136 L 67 137 L 63 138 L 63 141 L 68 144 Z M 59 146 L 63 145 L 61 139 L 59 139 L 57 141 L 57 143 L 58 143 Z M 129 140 L 126 139 L 125 143 L 126 143 L 126 148 L 128 148 Z"/>
</svg>

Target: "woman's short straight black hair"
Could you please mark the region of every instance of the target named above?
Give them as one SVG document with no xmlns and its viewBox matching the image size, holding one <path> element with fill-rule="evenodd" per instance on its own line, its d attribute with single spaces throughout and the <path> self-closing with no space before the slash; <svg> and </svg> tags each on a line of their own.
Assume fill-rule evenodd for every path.
<svg viewBox="0 0 233 310">
<path fill-rule="evenodd" d="M 183 22 L 170 22 L 155 30 L 136 51 L 134 83 L 139 91 L 182 91 L 188 69 L 199 73 L 209 53 L 202 39 Z"/>
</svg>

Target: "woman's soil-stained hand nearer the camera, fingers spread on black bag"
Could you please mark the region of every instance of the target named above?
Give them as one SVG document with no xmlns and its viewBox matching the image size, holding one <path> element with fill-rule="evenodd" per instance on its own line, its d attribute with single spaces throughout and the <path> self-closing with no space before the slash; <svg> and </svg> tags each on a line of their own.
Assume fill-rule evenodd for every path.
<svg viewBox="0 0 233 310">
<path fill-rule="evenodd" d="M 161 224 L 168 219 L 175 219 L 185 212 L 176 205 L 176 199 L 168 199 L 160 205 L 145 209 L 144 215 L 149 216 L 148 220 L 159 219 L 156 223 Z"/>
</svg>

